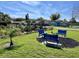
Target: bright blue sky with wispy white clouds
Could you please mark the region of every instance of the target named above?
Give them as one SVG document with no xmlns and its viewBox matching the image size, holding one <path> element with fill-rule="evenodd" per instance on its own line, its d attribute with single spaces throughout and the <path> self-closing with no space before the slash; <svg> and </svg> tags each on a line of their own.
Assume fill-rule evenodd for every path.
<svg viewBox="0 0 79 59">
<path fill-rule="evenodd" d="M 69 20 L 73 9 L 79 11 L 78 6 L 78 1 L 0 1 L 0 12 L 9 14 L 12 18 L 24 18 L 28 13 L 30 18 L 43 17 L 48 20 L 51 14 L 60 13 L 61 20 Z"/>
</svg>

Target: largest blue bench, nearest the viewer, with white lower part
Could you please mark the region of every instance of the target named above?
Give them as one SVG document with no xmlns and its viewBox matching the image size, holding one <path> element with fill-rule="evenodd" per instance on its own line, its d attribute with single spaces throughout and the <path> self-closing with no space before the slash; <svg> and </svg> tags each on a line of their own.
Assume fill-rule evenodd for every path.
<svg viewBox="0 0 79 59">
<path fill-rule="evenodd" d="M 62 44 L 59 42 L 58 35 L 43 34 L 45 39 L 45 45 L 49 47 L 61 48 Z M 51 42 L 51 43 L 49 43 Z"/>
</svg>

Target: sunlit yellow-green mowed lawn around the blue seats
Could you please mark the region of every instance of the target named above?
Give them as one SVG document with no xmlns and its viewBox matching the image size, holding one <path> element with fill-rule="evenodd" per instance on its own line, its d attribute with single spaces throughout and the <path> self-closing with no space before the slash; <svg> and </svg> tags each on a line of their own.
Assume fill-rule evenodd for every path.
<svg viewBox="0 0 79 59">
<path fill-rule="evenodd" d="M 55 29 L 54 32 L 57 32 Z M 48 30 L 47 33 L 51 33 Z M 11 50 L 4 49 L 3 46 L 9 42 L 9 38 L 0 39 L 0 57 L 1 58 L 60 58 L 60 57 L 79 57 L 79 46 L 74 48 L 55 49 L 46 47 L 36 40 L 38 33 L 16 36 L 13 38 L 15 47 Z M 67 31 L 67 38 L 72 38 L 79 42 L 79 31 Z"/>
</svg>

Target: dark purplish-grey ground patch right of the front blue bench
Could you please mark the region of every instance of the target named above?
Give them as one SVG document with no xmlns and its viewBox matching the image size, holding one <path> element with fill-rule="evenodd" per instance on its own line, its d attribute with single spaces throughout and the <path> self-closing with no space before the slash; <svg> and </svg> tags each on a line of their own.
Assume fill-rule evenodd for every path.
<svg viewBox="0 0 79 59">
<path fill-rule="evenodd" d="M 71 38 L 59 37 L 59 40 L 62 44 L 62 48 L 74 48 L 76 46 L 79 46 L 79 42 Z"/>
</svg>

